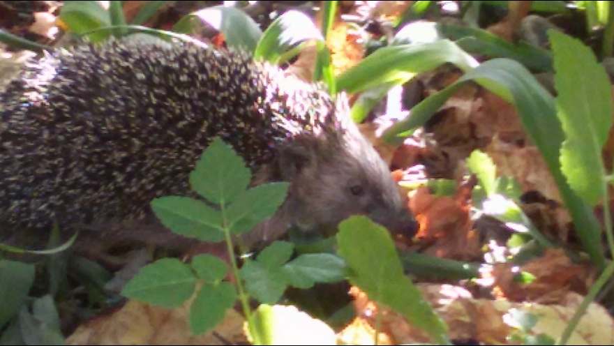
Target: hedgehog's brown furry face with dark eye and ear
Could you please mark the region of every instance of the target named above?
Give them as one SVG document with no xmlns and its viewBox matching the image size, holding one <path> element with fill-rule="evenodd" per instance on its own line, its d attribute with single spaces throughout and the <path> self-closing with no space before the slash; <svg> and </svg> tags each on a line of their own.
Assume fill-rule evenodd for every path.
<svg viewBox="0 0 614 346">
<path fill-rule="evenodd" d="M 355 126 L 297 139 L 280 156 L 292 183 L 285 211 L 300 228 L 336 228 L 345 218 L 366 215 L 391 232 L 411 236 L 416 230 L 387 165 Z"/>
</svg>

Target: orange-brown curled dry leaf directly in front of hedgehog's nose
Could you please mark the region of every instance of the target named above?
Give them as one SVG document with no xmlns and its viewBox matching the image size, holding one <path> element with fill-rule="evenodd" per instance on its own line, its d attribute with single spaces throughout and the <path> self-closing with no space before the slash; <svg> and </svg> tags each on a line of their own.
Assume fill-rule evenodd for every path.
<svg viewBox="0 0 614 346">
<path fill-rule="evenodd" d="M 473 260 L 481 255 L 465 197 L 435 196 L 421 187 L 410 196 L 410 209 L 420 224 L 417 238 L 432 242 L 424 253 L 455 260 Z"/>
</svg>

